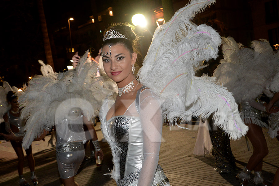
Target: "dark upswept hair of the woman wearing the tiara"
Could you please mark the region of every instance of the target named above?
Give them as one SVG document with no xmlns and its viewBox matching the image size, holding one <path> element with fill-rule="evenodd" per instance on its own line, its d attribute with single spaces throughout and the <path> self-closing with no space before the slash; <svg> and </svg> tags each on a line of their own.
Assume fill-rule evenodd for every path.
<svg viewBox="0 0 279 186">
<path fill-rule="evenodd" d="M 109 30 L 115 30 L 125 36 L 125 38 L 112 38 L 104 41 L 103 46 L 105 45 L 117 45 L 122 44 L 131 54 L 136 52 L 138 57 L 136 60 L 135 68 L 137 72 L 137 67 L 141 64 L 141 52 L 139 49 L 139 36 L 134 32 L 134 30 L 129 26 L 129 23 L 114 23 L 108 27 L 104 34 Z"/>
</svg>

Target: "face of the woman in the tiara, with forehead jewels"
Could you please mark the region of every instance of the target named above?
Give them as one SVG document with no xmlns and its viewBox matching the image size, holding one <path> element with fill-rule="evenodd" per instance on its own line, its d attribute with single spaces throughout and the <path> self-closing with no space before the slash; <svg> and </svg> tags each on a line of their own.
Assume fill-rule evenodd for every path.
<svg viewBox="0 0 279 186">
<path fill-rule="evenodd" d="M 111 55 L 109 55 L 109 49 Z M 137 54 L 130 53 L 122 44 L 112 45 L 109 48 L 105 45 L 102 49 L 102 54 L 108 52 L 103 56 L 104 71 L 113 81 L 125 86 L 130 83 L 135 77 L 132 73 L 132 64 L 135 64 Z"/>
</svg>

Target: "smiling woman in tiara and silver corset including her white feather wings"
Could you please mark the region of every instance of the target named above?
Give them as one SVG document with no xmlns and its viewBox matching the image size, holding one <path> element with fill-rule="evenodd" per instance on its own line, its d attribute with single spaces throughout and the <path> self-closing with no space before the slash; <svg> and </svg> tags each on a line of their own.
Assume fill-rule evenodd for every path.
<svg viewBox="0 0 279 186">
<path fill-rule="evenodd" d="M 117 185 L 170 185 L 158 165 L 162 117 L 169 121 L 215 113 L 215 125 L 237 139 L 247 128 L 231 93 L 194 71 L 202 60 L 217 57 L 220 36 L 206 25 L 190 21 L 214 0 L 192 0 L 170 21 L 158 27 L 135 78 L 137 36 L 131 27 L 115 24 L 104 32 L 104 71 L 118 86 L 100 109 L 101 129 L 110 145 Z M 147 86 L 147 87 L 146 87 Z M 162 108 L 162 110 L 161 110 Z"/>
</svg>

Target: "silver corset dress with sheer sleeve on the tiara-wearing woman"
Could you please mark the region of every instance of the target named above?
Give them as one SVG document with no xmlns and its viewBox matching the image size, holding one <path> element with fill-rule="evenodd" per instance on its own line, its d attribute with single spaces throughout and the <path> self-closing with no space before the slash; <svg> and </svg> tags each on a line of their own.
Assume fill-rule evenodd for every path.
<svg viewBox="0 0 279 186">
<path fill-rule="evenodd" d="M 138 91 L 125 114 L 106 120 L 114 103 L 108 96 L 100 110 L 101 129 L 113 155 L 111 176 L 117 186 L 169 186 L 158 165 L 162 135 L 162 111 L 150 89 Z"/>
</svg>

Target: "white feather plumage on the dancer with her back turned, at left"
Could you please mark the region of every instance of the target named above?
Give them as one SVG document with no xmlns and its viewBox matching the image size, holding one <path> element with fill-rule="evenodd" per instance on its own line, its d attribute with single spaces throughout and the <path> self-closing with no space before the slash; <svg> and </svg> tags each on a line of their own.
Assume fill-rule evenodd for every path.
<svg viewBox="0 0 279 186">
<path fill-rule="evenodd" d="M 27 119 L 24 148 L 29 148 L 43 129 L 49 130 L 55 122 L 62 121 L 73 107 L 81 108 L 88 120 L 95 117 L 105 96 L 113 92 L 104 89 L 102 81 L 95 83 L 97 65 L 86 62 L 87 52 L 80 58 L 76 69 L 47 73 L 47 76 L 29 81 L 25 87 L 19 98 L 21 117 Z"/>
</svg>

